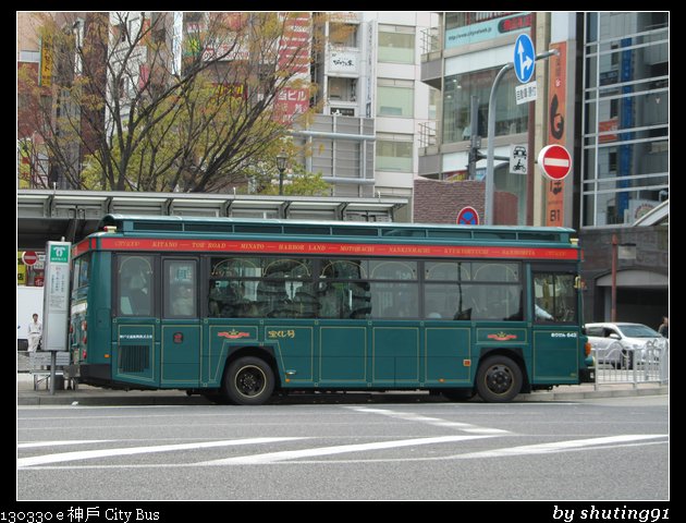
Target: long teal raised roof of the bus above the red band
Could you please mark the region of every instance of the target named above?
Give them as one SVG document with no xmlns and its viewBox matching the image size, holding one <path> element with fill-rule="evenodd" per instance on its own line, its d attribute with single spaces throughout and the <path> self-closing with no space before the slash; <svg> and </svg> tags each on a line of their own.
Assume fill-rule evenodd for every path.
<svg viewBox="0 0 686 523">
<path fill-rule="evenodd" d="M 352 236 L 502 240 L 532 243 L 571 243 L 574 229 L 561 227 L 458 226 L 439 223 L 399 223 L 360 221 L 278 220 L 258 218 L 213 218 L 183 216 L 107 215 L 98 226 L 117 227 L 123 234 L 193 233 L 193 234 L 269 234 L 307 236 Z"/>
</svg>

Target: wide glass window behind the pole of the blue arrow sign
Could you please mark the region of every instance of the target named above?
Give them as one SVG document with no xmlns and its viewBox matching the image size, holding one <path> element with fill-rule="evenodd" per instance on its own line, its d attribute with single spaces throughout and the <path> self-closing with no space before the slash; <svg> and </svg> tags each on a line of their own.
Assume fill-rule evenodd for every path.
<svg viewBox="0 0 686 523">
<path fill-rule="evenodd" d="M 443 142 L 469 139 L 471 96 L 479 97 L 479 134 L 487 136 L 488 99 L 500 68 L 446 76 L 443 89 Z M 495 136 L 525 133 L 528 130 L 528 105 L 518 105 L 514 93 L 517 78 L 504 76 L 497 94 Z"/>
</svg>

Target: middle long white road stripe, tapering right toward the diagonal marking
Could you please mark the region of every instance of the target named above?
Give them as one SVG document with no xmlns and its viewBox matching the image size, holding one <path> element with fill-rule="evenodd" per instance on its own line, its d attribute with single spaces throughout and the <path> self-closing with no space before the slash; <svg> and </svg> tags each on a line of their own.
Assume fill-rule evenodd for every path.
<svg viewBox="0 0 686 523">
<path fill-rule="evenodd" d="M 490 438 L 492 436 L 440 436 L 436 438 L 400 439 L 394 441 L 377 441 L 372 443 L 338 445 L 333 447 L 319 447 L 314 449 L 284 450 L 281 452 L 267 452 L 264 454 L 243 455 L 211 460 L 196 463 L 196 465 L 261 465 L 299 458 L 313 458 L 317 455 L 333 455 L 345 452 L 365 452 L 368 450 L 397 449 L 402 447 L 417 447 L 420 445 L 450 443 L 466 441 L 468 439 Z"/>
</svg>

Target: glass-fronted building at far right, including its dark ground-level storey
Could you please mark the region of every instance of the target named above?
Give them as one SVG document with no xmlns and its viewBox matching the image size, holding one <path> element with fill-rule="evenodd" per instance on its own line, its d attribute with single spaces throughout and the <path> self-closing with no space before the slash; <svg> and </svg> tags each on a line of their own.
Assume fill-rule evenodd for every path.
<svg viewBox="0 0 686 523">
<path fill-rule="evenodd" d="M 611 319 L 614 279 L 616 319 L 657 328 L 669 315 L 669 13 L 585 13 L 579 25 L 587 316 Z"/>
</svg>

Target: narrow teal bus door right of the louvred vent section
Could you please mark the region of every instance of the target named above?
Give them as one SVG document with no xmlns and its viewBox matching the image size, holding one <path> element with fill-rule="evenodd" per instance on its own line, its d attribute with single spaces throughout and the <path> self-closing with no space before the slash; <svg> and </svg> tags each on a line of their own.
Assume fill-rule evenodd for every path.
<svg viewBox="0 0 686 523">
<path fill-rule="evenodd" d="M 198 387 L 200 319 L 198 259 L 163 257 L 160 321 L 160 387 Z"/>
</svg>

